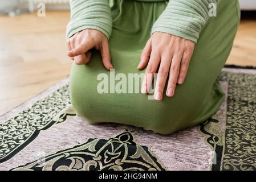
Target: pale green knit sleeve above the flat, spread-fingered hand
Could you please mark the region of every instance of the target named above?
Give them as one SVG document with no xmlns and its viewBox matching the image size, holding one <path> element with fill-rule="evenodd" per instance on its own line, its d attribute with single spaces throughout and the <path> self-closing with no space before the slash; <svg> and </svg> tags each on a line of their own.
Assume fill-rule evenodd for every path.
<svg viewBox="0 0 256 182">
<path fill-rule="evenodd" d="M 166 32 L 197 43 L 200 31 L 209 19 L 210 3 L 219 0 L 170 0 L 152 27 L 154 32 Z"/>
</svg>

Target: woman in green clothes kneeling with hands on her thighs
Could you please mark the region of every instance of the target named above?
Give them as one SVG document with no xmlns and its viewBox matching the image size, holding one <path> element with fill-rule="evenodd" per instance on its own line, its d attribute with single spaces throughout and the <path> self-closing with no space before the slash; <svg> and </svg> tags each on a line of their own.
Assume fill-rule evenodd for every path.
<svg viewBox="0 0 256 182">
<path fill-rule="evenodd" d="M 90 123 L 160 134 L 206 121 L 224 99 L 218 75 L 238 24 L 238 0 L 71 0 L 67 44 L 76 113 Z M 141 93 L 97 92 L 97 76 L 112 68 L 127 77 L 148 73 Z M 155 100 L 148 100 L 154 73 Z"/>
</svg>

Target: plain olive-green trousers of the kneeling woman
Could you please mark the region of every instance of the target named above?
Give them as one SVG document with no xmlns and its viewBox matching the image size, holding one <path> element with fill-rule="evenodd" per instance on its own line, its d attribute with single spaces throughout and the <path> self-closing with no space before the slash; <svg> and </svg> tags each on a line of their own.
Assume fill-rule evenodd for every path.
<svg viewBox="0 0 256 182">
<path fill-rule="evenodd" d="M 115 75 L 124 73 L 128 78 L 129 73 L 145 72 L 137 70 L 140 54 L 167 3 L 113 1 L 109 47 Z M 162 101 L 149 100 L 142 93 L 99 93 L 97 86 L 101 81 L 97 76 L 111 76 L 103 67 L 100 53 L 93 51 L 90 63 L 72 65 L 70 91 L 76 113 L 92 124 L 123 123 L 160 134 L 206 121 L 224 99 L 218 75 L 233 45 L 239 16 L 238 1 L 220 1 L 217 16 L 202 28 L 184 84 L 177 85 L 174 97 L 164 96 Z"/>
</svg>

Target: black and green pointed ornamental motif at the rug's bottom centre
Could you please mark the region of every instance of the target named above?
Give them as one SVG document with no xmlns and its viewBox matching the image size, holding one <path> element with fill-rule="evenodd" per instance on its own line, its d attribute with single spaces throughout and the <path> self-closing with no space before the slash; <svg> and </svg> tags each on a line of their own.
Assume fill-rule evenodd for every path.
<svg viewBox="0 0 256 182">
<path fill-rule="evenodd" d="M 136 144 L 129 132 L 110 139 L 88 139 L 86 143 L 57 152 L 14 170 L 139 170 L 162 171 L 148 147 Z"/>
</svg>

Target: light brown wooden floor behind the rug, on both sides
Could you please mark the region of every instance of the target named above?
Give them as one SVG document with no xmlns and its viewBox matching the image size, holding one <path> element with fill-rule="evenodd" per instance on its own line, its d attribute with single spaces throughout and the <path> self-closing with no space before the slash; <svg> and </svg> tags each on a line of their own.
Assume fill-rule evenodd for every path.
<svg viewBox="0 0 256 182">
<path fill-rule="evenodd" d="M 68 12 L 0 16 L 0 115 L 68 77 Z M 242 19 L 227 64 L 256 66 L 256 18 Z"/>
</svg>

